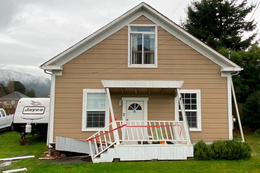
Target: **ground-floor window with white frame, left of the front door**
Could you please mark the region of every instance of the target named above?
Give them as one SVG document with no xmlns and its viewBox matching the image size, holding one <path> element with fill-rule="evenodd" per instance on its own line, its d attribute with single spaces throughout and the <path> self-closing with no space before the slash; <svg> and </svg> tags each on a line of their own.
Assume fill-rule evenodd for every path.
<svg viewBox="0 0 260 173">
<path fill-rule="evenodd" d="M 83 89 L 82 131 L 98 131 L 109 121 L 109 105 L 104 89 Z"/>
</svg>

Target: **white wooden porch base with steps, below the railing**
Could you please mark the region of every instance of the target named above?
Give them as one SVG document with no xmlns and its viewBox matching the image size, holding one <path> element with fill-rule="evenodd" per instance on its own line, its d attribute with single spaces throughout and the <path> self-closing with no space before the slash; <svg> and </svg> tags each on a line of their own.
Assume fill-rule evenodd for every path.
<svg viewBox="0 0 260 173">
<path fill-rule="evenodd" d="M 101 153 L 100 157 L 93 159 L 93 163 L 113 162 L 114 158 L 120 161 L 136 160 L 186 160 L 193 157 L 193 145 L 135 145 L 116 146 Z"/>
</svg>

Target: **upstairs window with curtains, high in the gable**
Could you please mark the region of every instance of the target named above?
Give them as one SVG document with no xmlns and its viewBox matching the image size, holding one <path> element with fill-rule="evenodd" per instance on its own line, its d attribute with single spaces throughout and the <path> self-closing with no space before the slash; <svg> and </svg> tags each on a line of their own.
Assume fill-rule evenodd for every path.
<svg viewBox="0 0 260 173">
<path fill-rule="evenodd" d="M 157 67 L 157 26 L 128 29 L 128 67 Z"/>
</svg>

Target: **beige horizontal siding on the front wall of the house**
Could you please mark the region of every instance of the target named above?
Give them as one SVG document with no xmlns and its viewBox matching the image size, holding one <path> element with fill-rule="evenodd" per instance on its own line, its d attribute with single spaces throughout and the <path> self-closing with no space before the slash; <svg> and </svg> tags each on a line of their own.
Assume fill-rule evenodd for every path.
<svg viewBox="0 0 260 173">
<path fill-rule="evenodd" d="M 140 17 L 135 24 L 154 24 Z M 182 89 L 201 90 L 202 131 L 191 132 L 193 142 L 228 139 L 227 78 L 220 66 L 158 27 L 158 68 L 127 67 L 127 26 L 64 64 L 55 81 L 55 136 L 85 140 L 82 132 L 83 88 L 103 88 L 101 80 L 184 80 Z M 111 68 L 111 69 L 110 69 Z M 171 94 L 112 94 L 115 117 L 122 120 L 121 97 L 149 97 L 148 120 L 174 120 Z"/>
</svg>

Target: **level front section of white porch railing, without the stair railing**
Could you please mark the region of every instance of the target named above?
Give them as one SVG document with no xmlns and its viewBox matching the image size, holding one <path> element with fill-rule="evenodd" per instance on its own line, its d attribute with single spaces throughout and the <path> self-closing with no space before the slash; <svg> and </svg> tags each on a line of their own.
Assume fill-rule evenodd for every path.
<svg viewBox="0 0 260 173">
<path fill-rule="evenodd" d="M 116 121 L 120 142 L 138 141 L 138 144 L 189 144 L 189 132 L 183 121 Z M 125 125 L 125 126 L 124 126 Z"/>
</svg>

